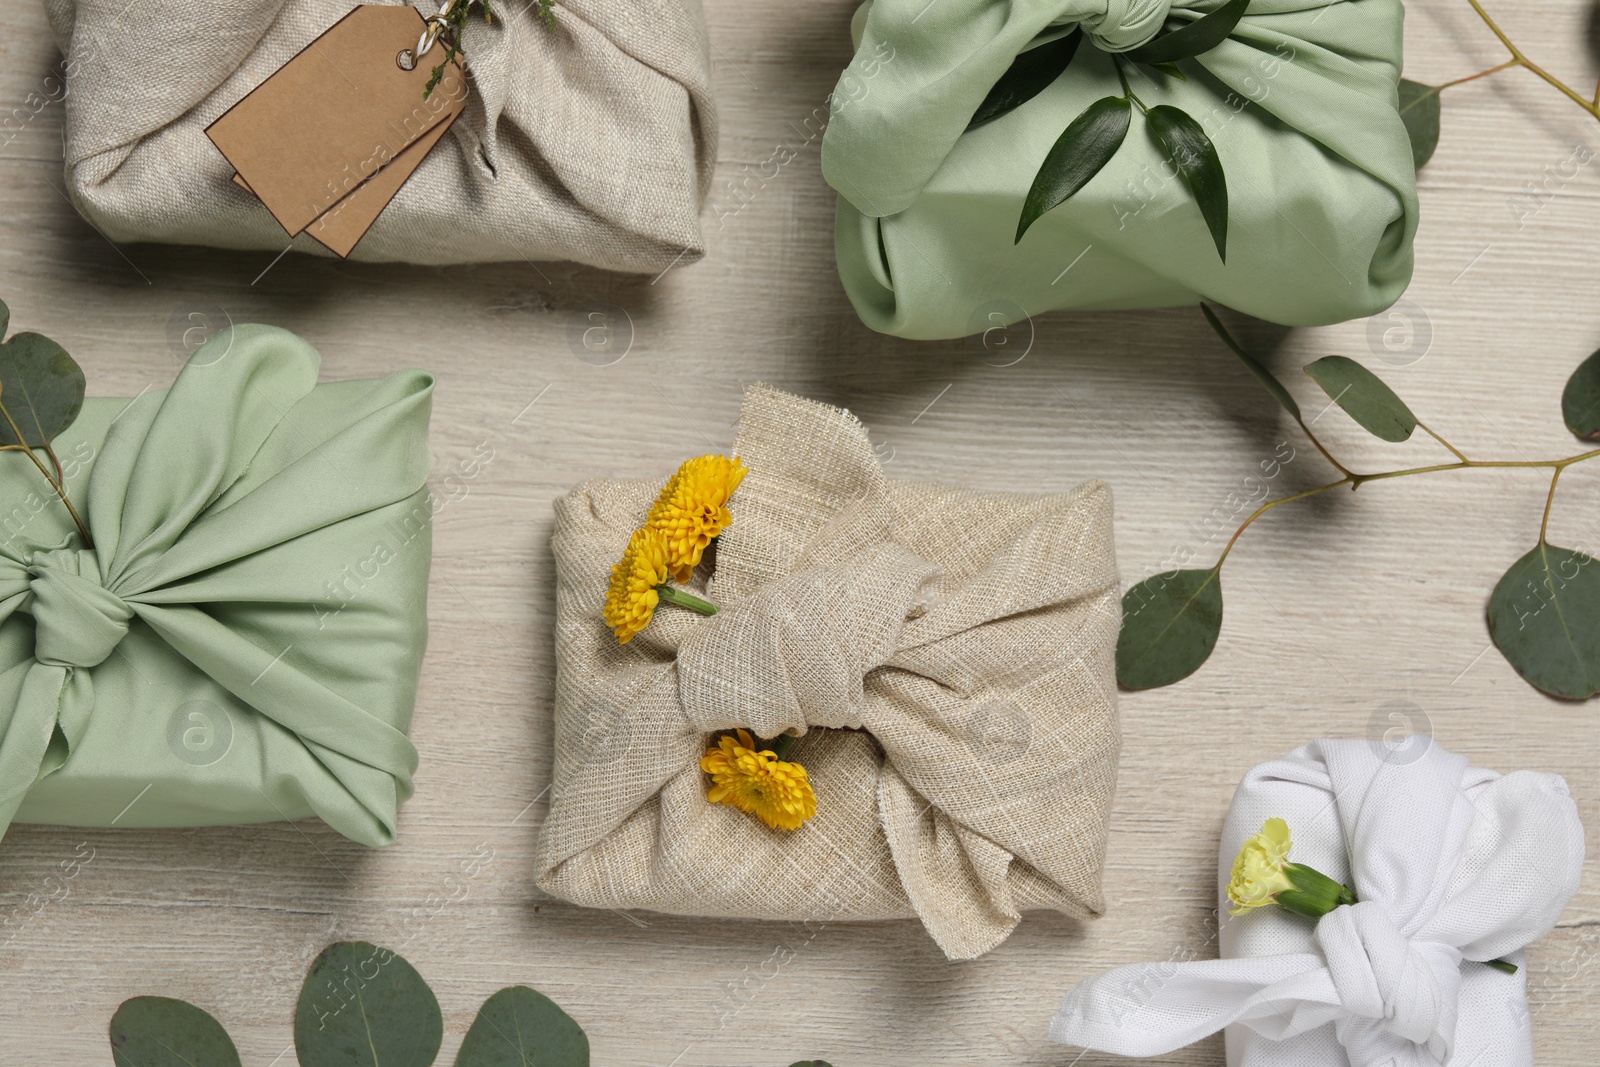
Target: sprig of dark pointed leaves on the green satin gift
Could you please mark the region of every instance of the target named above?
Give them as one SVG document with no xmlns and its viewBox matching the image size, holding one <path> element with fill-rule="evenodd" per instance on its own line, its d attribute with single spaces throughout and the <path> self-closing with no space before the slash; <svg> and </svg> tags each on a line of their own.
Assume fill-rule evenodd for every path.
<svg viewBox="0 0 1600 1067">
<path fill-rule="evenodd" d="M 1227 262 L 1227 176 L 1216 146 L 1200 122 L 1181 107 L 1171 104 L 1147 107 L 1128 83 L 1128 67 L 1142 66 L 1163 77 L 1187 80 L 1178 64 L 1227 40 L 1248 6 L 1250 0 L 1227 0 L 1216 11 L 1186 22 L 1147 45 L 1112 54 L 1117 78 L 1122 82 L 1122 96 L 1104 96 L 1085 107 L 1051 146 L 1027 197 L 1022 198 L 1016 243 L 1021 243 L 1022 235 L 1040 216 L 1069 200 L 1106 168 L 1126 141 L 1133 125 L 1133 109 L 1138 107 L 1144 115 L 1146 131 L 1198 205 L 1218 258 Z M 1072 64 L 1082 38 L 1083 32 L 1074 29 L 1066 37 L 1019 54 L 989 90 L 966 128 L 990 123 L 1043 93 Z"/>
</svg>

